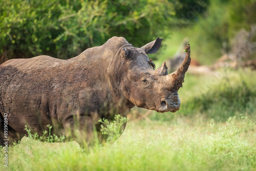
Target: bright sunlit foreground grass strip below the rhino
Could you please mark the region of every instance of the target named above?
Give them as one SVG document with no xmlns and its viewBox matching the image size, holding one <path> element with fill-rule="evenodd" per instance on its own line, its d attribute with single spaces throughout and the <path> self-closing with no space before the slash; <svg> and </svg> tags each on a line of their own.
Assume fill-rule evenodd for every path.
<svg viewBox="0 0 256 171">
<path fill-rule="evenodd" d="M 248 118 L 227 123 L 129 122 L 112 145 L 89 152 L 37 143 L 9 149 L 9 170 L 255 170 L 256 127 Z M 31 140 L 32 141 L 32 140 Z M 3 159 L 3 154 L 1 154 Z M 3 170 L 3 164 L 0 169 Z"/>
</svg>

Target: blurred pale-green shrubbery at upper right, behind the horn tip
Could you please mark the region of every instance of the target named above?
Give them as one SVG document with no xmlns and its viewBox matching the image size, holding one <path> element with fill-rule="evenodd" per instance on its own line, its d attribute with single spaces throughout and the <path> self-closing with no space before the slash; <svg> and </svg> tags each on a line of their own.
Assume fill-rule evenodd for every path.
<svg viewBox="0 0 256 171">
<path fill-rule="evenodd" d="M 205 7 L 200 8 L 205 11 L 202 15 L 195 15 L 190 19 L 186 17 L 185 22 L 183 19 L 185 24 L 172 27 L 169 32 L 170 39 L 165 43 L 173 50 L 168 49 L 165 57 L 172 57 L 178 48 L 177 45 L 180 45 L 184 38 L 188 38 L 191 58 L 197 59 L 202 65 L 212 65 L 223 53 L 231 50 L 233 38 L 241 29 L 250 31 L 250 26 L 256 24 L 255 0 L 216 0 L 209 1 L 209 5 L 206 1 L 205 4 Z M 183 14 L 186 16 L 185 11 Z M 178 18 L 177 23 L 182 23 L 182 19 Z M 255 39 L 256 36 L 251 41 Z"/>
</svg>

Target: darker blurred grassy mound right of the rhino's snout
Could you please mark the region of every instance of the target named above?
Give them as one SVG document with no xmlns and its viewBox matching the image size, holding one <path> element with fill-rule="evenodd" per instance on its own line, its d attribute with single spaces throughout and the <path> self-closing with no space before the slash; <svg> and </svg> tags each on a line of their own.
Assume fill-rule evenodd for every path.
<svg viewBox="0 0 256 171">
<path fill-rule="evenodd" d="M 220 70 L 218 77 L 216 75 L 205 77 L 203 79 L 205 81 L 198 81 L 197 89 L 192 90 L 194 95 L 184 99 L 178 113 L 184 115 L 202 113 L 220 121 L 244 113 L 256 119 L 256 80 L 252 79 L 255 74 L 255 71 L 250 70 Z M 189 85 L 185 84 L 184 89 L 189 89 Z"/>
</svg>

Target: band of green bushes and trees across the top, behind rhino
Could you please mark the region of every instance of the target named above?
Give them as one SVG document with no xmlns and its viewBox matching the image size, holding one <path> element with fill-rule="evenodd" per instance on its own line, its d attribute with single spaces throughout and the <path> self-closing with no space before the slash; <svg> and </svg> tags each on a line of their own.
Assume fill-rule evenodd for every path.
<svg viewBox="0 0 256 171">
<path fill-rule="evenodd" d="M 223 43 L 230 51 L 234 35 L 256 23 L 255 8 L 255 0 L 3 0 L 0 57 L 67 59 L 112 36 L 123 36 L 135 47 L 156 37 L 189 36 L 197 44 L 195 57 L 209 64 L 221 56 Z"/>
</svg>

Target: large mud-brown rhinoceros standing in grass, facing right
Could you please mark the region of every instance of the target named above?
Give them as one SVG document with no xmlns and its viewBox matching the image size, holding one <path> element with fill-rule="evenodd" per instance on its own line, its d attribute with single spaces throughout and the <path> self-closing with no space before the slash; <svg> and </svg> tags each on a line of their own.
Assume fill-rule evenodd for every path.
<svg viewBox="0 0 256 171">
<path fill-rule="evenodd" d="M 67 60 L 42 55 L 4 62 L 0 145 L 6 139 L 5 120 L 9 142 L 27 133 L 25 125 L 41 135 L 50 124 L 55 133 L 71 130 L 75 140 L 90 143 L 93 131 L 99 132 L 100 118 L 126 117 L 135 105 L 161 113 L 178 111 L 178 90 L 190 64 L 190 47 L 181 67 L 168 75 L 165 61 L 155 71 L 147 56 L 158 51 L 161 41 L 158 37 L 135 48 L 115 36 Z"/>
</svg>

